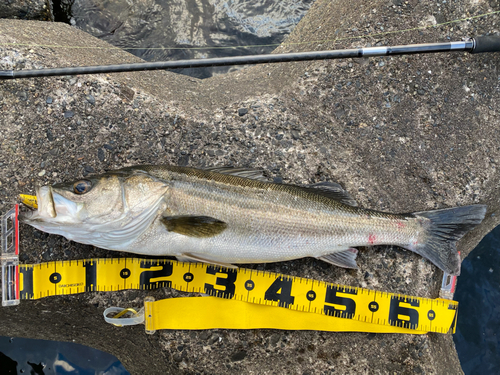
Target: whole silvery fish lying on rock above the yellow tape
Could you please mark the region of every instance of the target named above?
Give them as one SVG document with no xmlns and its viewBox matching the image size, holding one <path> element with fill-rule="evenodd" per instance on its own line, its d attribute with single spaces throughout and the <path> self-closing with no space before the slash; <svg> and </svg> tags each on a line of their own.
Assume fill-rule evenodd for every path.
<svg viewBox="0 0 500 375">
<path fill-rule="evenodd" d="M 20 221 L 115 251 L 234 268 L 313 257 L 357 269 L 358 247 L 391 245 L 460 274 L 456 243 L 485 205 L 393 214 L 358 207 L 337 183 L 269 182 L 262 170 L 125 167 L 36 190 Z"/>
</svg>

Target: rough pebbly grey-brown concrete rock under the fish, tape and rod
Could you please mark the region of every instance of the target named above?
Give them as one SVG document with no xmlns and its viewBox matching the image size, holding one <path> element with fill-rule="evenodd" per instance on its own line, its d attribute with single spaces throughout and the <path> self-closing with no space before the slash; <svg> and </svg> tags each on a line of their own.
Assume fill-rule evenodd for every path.
<svg viewBox="0 0 500 375">
<path fill-rule="evenodd" d="M 277 52 L 498 32 L 494 14 L 396 33 L 489 7 L 462 0 L 317 0 Z M 0 44 L 3 69 L 138 61 L 63 24 L 0 20 Z M 499 63 L 495 54 L 450 53 L 263 65 L 203 81 L 159 71 L 3 81 L 0 210 L 36 185 L 128 165 L 233 164 L 262 167 L 277 182 L 337 181 L 361 206 L 377 210 L 488 204 L 483 224 L 459 244 L 466 256 L 498 225 Z M 26 226 L 21 239 L 26 263 L 124 255 Z M 358 264 L 358 271 L 313 259 L 250 267 L 437 297 L 442 273 L 417 255 L 368 248 Z M 140 327 L 119 329 L 102 320 L 106 307 L 138 307 L 150 294 L 180 295 L 127 291 L 24 302 L 0 309 L 0 335 L 90 345 L 116 355 L 134 374 L 461 372 L 445 335 L 210 330 L 147 336 Z"/>
</svg>

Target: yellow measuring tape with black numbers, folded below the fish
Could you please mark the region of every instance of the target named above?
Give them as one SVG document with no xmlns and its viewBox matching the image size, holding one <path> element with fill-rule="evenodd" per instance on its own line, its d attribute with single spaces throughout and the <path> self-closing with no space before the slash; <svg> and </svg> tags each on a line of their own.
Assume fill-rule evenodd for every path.
<svg viewBox="0 0 500 375">
<path fill-rule="evenodd" d="M 252 269 L 167 259 L 103 258 L 19 265 L 20 299 L 171 287 L 210 297 L 146 301 L 146 330 L 276 328 L 453 333 L 458 303 Z"/>
</svg>

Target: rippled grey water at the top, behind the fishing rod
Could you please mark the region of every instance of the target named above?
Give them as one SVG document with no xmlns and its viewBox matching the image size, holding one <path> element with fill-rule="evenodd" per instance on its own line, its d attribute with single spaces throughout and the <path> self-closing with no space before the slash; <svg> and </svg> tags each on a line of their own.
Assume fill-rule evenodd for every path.
<svg viewBox="0 0 500 375">
<path fill-rule="evenodd" d="M 146 61 L 270 53 L 314 0 L 56 0 L 56 20 Z M 251 46 L 251 47 L 249 47 Z M 198 78 L 231 67 L 182 69 Z"/>
</svg>

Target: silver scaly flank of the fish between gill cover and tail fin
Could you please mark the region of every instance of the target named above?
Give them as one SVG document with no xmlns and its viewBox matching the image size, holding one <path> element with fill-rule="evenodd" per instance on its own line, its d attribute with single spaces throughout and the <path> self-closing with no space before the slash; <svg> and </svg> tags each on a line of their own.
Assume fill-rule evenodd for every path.
<svg viewBox="0 0 500 375">
<path fill-rule="evenodd" d="M 196 238 L 168 233 L 157 224 L 145 234 L 147 241 L 135 244 L 147 253 L 273 262 L 356 246 L 408 247 L 418 238 L 414 218 L 346 206 L 289 185 L 225 175 L 170 172 L 168 177 L 165 216 L 209 216 L 224 221 L 227 228 L 214 237 Z"/>
</svg>

